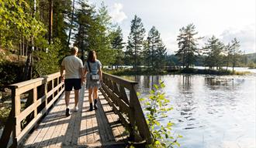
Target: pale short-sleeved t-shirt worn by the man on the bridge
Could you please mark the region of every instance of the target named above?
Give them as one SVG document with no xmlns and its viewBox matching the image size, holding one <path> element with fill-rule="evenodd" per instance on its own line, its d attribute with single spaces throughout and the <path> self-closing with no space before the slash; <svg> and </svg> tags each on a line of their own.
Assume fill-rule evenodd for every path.
<svg viewBox="0 0 256 148">
<path fill-rule="evenodd" d="M 65 57 L 61 63 L 65 67 L 65 79 L 81 79 L 79 69 L 83 68 L 83 62 L 75 55 Z"/>
</svg>

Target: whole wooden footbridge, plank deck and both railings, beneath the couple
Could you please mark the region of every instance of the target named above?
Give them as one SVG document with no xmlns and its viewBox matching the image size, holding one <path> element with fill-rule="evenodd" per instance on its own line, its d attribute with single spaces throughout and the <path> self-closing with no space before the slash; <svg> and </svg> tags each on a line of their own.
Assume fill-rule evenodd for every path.
<svg viewBox="0 0 256 148">
<path fill-rule="evenodd" d="M 68 117 L 59 72 L 13 84 L 12 110 L 0 147 L 9 147 L 10 138 L 11 147 L 125 147 L 129 141 L 144 146 L 151 137 L 136 84 L 103 73 L 99 109 L 88 111 L 88 92 L 82 87 L 78 112 Z M 74 93 L 70 106 L 74 106 Z"/>
</svg>

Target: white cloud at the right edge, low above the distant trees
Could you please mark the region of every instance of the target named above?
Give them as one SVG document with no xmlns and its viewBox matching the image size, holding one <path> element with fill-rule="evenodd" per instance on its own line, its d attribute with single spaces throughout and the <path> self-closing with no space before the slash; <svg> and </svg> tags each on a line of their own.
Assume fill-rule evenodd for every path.
<svg viewBox="0 0 256 148">
<path fill-rule="evenodd" d="M 240 49 L 246 53 L 255 51 L 255 24 L 244 26 L 242 29 L 227 29 L 220 35 L 224 43 L 237 38 L 240 41 Z"/>
</svg>

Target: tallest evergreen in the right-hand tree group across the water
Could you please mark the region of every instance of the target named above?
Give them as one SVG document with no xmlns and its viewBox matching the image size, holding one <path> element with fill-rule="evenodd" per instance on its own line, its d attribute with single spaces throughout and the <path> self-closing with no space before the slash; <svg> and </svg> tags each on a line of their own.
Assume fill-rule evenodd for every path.
<svg viewBox="0 0 256 148">
<path fill-rule="evenodd" d="M 179 29 L 178 35 L 178 51 L 176 55 L 182 62 L 183 67 L 192 66 L 195 62 L 196 56 L 199 54 L 198 40 L 201 38 L 195 38 L 198 32 L 195 32 L 195 25 L 189 24 L 186 27 Z"/>
</svg>

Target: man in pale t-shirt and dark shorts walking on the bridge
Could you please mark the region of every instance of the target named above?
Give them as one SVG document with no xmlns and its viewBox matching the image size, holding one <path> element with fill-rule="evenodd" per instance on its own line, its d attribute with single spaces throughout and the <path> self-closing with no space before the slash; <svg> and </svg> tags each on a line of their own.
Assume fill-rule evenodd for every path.
<svg viewBox="0 0 256 148">
<path fill-rule="evenodd" d="M 78 48 L 71 48 L 71 55 L 65 57 L 61 63 L 61 79 L 65 85 L 66 116 L 70 116 L 69 99 L 71 90 L 74 87 L 74 112 L 78 111 L 78 95 L 81 83 L 84 82 L 83 63 L 77 57 Z M 64 74 L 65 70 L 65 74 Z"/>
</svg>

